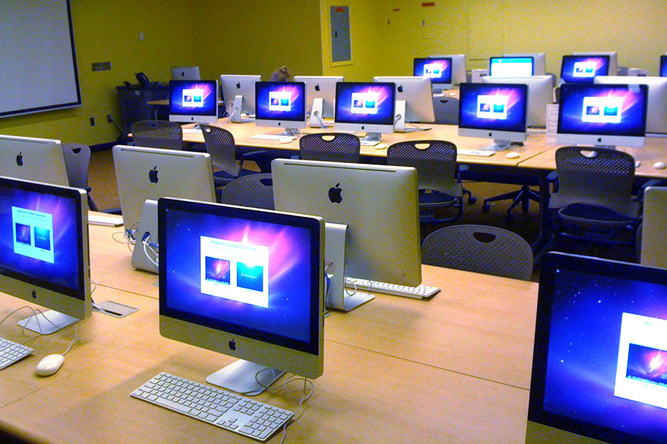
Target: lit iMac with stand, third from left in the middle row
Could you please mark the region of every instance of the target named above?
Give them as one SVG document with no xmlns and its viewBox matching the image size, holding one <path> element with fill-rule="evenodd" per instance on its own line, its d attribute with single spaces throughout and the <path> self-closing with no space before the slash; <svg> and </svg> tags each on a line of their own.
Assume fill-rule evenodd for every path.
<svg viewBox="0 0 667 444">
<path fill-rule="evenodd" d="M 365 131 L 362 144 L 378 144 L 381 133 L 393 133 L 393 83 L 336 83 L 336 131 Z"/>
</svg>

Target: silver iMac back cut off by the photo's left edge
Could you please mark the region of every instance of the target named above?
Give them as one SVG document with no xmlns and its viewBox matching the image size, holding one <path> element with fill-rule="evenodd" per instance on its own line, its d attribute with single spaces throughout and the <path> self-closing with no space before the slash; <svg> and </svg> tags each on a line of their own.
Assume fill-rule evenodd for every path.
<svg viewBox="0 0 667 444">
<path fill-rule="evenodd" d="M 0 135 L 0 176 L 69 186 L 60 140 Z"/>
</svg>

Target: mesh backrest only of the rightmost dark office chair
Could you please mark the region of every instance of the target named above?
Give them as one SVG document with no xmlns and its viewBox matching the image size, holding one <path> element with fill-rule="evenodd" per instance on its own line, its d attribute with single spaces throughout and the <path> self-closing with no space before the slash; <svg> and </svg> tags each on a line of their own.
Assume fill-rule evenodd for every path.
<svg viewBox="0 0 667 444">
<path fill-rule="evenodd" d="M 563 146 L 556 151 L 556 169 L 558 192 L 552 195 L 550 207 L 591 203 L 636 216 L 631 155 L 606 148 Z"/>
</svg>

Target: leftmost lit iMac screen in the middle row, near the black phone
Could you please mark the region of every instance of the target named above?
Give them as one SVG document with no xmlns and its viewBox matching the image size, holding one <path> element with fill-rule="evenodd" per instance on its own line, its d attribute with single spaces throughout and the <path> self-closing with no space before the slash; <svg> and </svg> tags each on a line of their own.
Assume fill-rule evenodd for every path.
<svg viewBox="0 0 667 444">
<path fill-rule="evenodd" d="M 169 120 L 217 122 L 217 80 L 170 80 Z"/>
</svg>

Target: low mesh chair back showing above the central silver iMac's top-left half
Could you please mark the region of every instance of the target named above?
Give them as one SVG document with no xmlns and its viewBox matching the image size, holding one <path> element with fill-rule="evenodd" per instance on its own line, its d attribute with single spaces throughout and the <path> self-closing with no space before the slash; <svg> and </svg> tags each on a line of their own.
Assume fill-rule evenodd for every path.
<svg viewBox="0 0 667 444">
<path fill-rule="evenodd" d="M 359 162 L 359 137 L 347 133 L 306 134 L 299 139 L 301 158 L 328 162 Z"/>
</svg>

